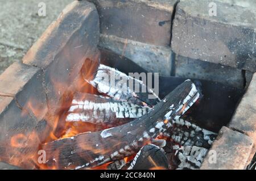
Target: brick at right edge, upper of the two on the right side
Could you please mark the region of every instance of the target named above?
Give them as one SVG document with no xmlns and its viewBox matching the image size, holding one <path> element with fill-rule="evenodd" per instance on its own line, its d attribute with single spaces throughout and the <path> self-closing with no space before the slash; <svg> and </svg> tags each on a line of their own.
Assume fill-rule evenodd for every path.
<svg viewBox="0 0 256 181">
<path fill-rule="evenodd" d="M 229 123 L 229 128 L 235 129 L 247 134 L 254 140 L 256 144 L 256 73 L 251 79 L 250 85 L 243 95 L 232 120 Z"/>
</svg>

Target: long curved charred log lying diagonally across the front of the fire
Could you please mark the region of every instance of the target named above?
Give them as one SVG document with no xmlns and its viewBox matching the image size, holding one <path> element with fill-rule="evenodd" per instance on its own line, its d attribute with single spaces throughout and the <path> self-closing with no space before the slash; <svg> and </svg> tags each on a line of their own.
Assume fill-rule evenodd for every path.
<svg viewBox="0 0 256 181">
<path fill-rule="evenodd" d="M 47 165 L 59 169 L 81 169 L 116 161 L 137 153 L 165 132 L 199 98 L 200 93 L 189 80 L 139 119 L 101 132 L 81 133 L 42 145 Z"/>
</svg>

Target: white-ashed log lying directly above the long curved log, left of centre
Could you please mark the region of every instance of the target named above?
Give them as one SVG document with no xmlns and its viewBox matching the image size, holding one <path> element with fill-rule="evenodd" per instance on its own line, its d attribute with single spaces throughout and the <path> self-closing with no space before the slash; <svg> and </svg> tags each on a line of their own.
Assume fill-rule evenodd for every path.
<svg viewBox="0 0 256 181">
<path fill-rule="evenodd" d="M 147 106 L 142 107 L 106 96 L 77 92 L 66 121 L 84 121 L 113 127 L 139 118 L 150 110 L 151 108 Z"/>
</svg>

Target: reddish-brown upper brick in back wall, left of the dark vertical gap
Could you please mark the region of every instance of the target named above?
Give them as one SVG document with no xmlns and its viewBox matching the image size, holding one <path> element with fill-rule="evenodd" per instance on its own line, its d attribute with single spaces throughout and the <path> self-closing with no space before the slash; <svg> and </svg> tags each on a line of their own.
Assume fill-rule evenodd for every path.
<svg viewBox="0 0 256 181">
<path fill-rule="evenodd" d="M 100 30 L 153 45 L 168 46 L 176 0 L 89 0 L 100 14 Z"/>
</svg>

